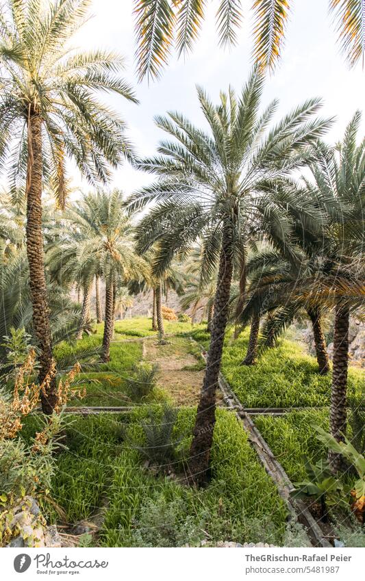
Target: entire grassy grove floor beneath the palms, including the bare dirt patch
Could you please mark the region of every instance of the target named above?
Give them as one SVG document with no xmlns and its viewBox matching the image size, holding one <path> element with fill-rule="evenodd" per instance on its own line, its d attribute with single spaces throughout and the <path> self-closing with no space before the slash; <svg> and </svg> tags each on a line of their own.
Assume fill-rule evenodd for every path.
<svg viewBox="0 0 365 581">
<path fill-rule="evenodd" d="M 131 341 L 151 335 L 151 321 L 138 318 L 116 323 L 111 361 L 97 370 L 81 373 L 86 398 L 73 405 L 115 406 L 133 404 L 134 411 L 68 417 L 68 450 L 58 456 L 51 498 L 45 506 L 51 521 L 72 529 L 79 521 L 94 522 L 103 513 L 103 524 L 91 543 L 103 546 L 181 546 L 233 540 L 281 545 L 286 530 L 286 509 L 273 481 L 257 460 L 247 434 L 236 417 L 218 409 L 212 448 L 212 480 L 199 491 L 186 486 L 184 471 L 194 423 L 195 404 L 203 379 L 199 348 L 209 336 L 204 326 L 166 323 L 174 333 L 168 344 L 154 339 Z M 97 348 L 102 328 L 77 344 L 58 346 L 60 358 Z M 248 333 L 233 342 L 228 334 L 223 373 L 247 406 L 313 406 L 282 417 L 260 416 L 255 422 L 292 481 L 305 476 L 304 458 L 316 461 L 325 450 L 314 435 L 313 424 L 327 428 L 330 378 L 317 374 L 316 361 L 290 341 L 267 351 L 253 367 L 240 361 Z M 147 398 L 137 401 L 128 378 L 142 360 L 160 366 L 157 385 Z M 361 373 L 351 370 L 350 390 L 360 397 Z M 144 424 L 161 421 L 163 406 L 177 407 L 173 428 L 171 473 L 147 467 L 142 448 Z M 36 417 L 28 420 L 24 437 L 36 429 Z"/>
</svg>

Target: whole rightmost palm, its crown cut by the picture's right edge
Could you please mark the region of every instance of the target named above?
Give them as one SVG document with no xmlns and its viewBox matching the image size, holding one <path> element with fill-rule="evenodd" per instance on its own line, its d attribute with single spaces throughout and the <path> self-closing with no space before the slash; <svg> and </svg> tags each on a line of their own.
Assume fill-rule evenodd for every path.
<svg viewBox="0 0 365 581">
<path fill-rule="evenodd" d="M 347 424 L 347 371 L 349 366 L 349 318 L 351 307 L 364 307 L 364 205 L 365 139 L 357 145 L 361 114 L 356 112 L 344 138 L 336 148 L 321 144 L 318 162 L 312 166 L 314 193 L 334 198 L 341 208 L 328 229 L 326 255 L 333 273 L 335 325 L 333 337 L 333 374 L 331 385 L 330 430 L 337 441 L 344 441 Z M 337 281 L 340 281 L 337 283 Z M 342 282 L 341 281 L 347 281 Z M 357 292 L 351 297 L 350 289 Z M 340 286 L 340 288 L 338 288 Z M 342 459 L 330 454 L 333 470 Z"/>
</svg>

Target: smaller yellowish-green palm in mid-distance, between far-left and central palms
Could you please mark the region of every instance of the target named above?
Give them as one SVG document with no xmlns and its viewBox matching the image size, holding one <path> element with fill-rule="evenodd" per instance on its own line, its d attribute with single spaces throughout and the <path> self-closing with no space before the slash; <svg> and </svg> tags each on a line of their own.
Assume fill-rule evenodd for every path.
<svg viewBox="0 0 365 581">
<path fill-rule="evenodd" d="M 118 285 L 130 278 L 142 277 L 145 261 L 134 251 L 134 231 L 125 212 L 123 193 L 97 190 L 75 203 L 64 215 L 66 228 L 61 244 L 49 250 L 48 265 L 58 279 L 82 281 L 85 297 L 96 275 L 105 280 L 105 318 L 103 360 L 110 359 L 110 341 L 114 333 L 114 314 Z M 68 231 L 68 235 L 66 232 Z M 81 319 L 82 331 L 85 320 Z"/>
</svg>

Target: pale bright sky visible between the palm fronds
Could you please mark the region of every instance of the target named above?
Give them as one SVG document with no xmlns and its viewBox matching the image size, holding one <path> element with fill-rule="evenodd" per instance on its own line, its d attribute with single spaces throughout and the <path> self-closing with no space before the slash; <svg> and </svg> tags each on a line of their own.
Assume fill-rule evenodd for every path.
<svg viewBox="0 0 365 581">
<path fill-rule="evenodd" d="M 164 133 L 154 125 L 156 114 L 177 110 L 197 125 L 203 125 L 197 84 L 217 102 L 220 90 L 227 90 L 231 85 L 239 91 L 247 80 L 252 66 L 251 0 L 243 2 L 245 16 L 238 32 L 238 45 L 226 50 L 218 47 L 214 25 L 218 1 L 208 4 L 210 9 L 194 51 L 180 60 L 173 55 L 158 81 L 137 81 L 132 0 L 93 0 L 90 10 L 93 16 L 73 42 L 82 50 L 112 49 L 125 56 L 124 76 L 134 86 L 140 105 L 129 103 L 121 96 L 107 101 L 127 122 L 129 138 L 139 155 L 153 155 L 159 140 L 164 138 Z M 262 108 L 272 99 L 279 99 L 279 119 L 313 96 L 323 98 L 323 116 L 336 116 L 326 136 L 329 142 L 336 142 L 342 138 L 355 110 L 364 108 L 365 70 L 361 63 L 349 69 L 344 62 L 336 42 L 336 29 L 328 14 L 328 1 L 295 0 L 281 62 L 275 74 L 266 79 Z M 362 133 L 364 129 L 365 113 Z M 77 170 L 72 172 L 74 185 L 87 190 L 88 185 Z M 125 163 L 113 172 L 111 187 L 130 194 L 149 181 L 150 175 Z"/>
</svg>

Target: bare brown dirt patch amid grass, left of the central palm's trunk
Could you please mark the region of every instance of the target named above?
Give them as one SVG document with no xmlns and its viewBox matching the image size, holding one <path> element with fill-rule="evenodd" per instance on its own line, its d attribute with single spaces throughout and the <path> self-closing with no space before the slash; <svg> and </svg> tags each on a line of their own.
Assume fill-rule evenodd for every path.
<svg viewBox="0 0 365 581">
<path fill-rule="evenodd" d="M 145 341 L 144 359 L 158 363 L 160 372 L 158 385 L 176 405 L 195 405 L 203 384 L 204 367 L 198 357 L 197 348 L 189 339 L 171 337 L 167 345 L 157 341 Z"/>
</svg>

